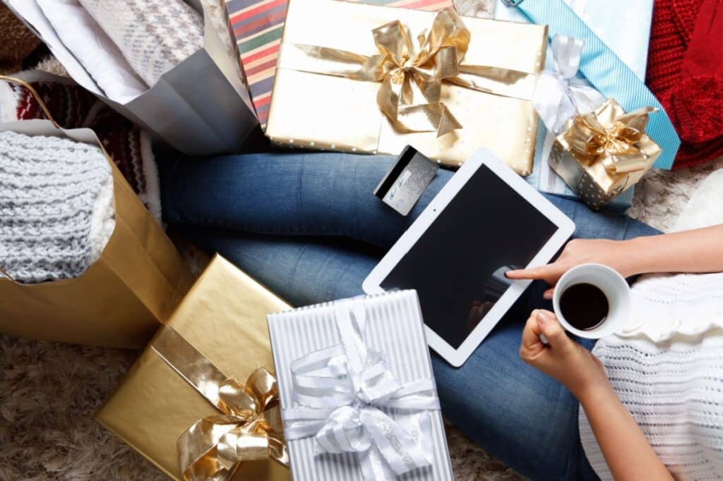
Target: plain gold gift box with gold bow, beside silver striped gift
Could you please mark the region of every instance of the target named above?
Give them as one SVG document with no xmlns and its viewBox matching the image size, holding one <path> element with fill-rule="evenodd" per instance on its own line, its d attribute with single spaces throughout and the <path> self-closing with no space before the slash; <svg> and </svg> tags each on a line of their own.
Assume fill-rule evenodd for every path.
<svg viewBox="0 0 723 481">
<path fill-rule="evenodd" d="M 290 306 L 216 256 L 96 419 L 184 481 L 290 480 L 269 313 Z"/>
</svg>

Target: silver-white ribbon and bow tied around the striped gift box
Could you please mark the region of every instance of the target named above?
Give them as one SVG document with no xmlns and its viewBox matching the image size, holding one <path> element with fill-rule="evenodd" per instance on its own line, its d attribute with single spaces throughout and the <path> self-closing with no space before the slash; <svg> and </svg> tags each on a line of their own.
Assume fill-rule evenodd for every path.
<svg viewBox="0 0 723 481">
<path fill-rule="evenodd" d="M 341 344 L 291 363 L 295 405 L 283 410 L 286 440 L 315 436 L 317 454 L 356 453 L 367 481 L 430 466 L 429 411 L 440 409 L 434 381 L 401 384 L 367 346 L 364 300 L 335 303 L 334 314 Z"/>
</svg>

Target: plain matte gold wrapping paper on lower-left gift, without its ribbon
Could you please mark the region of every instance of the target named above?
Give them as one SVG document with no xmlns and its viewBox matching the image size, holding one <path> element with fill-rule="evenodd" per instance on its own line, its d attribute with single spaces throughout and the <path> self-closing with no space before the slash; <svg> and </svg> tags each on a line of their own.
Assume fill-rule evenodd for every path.
<svg viewBox="0 0 723 481">
<path fill-rule="evenodd" d="M 171 316 L 168 326 L 219 371 L 246 379 L 260 366 L 273 368 L 266 316 L 289 308 L 216 256 Z M 176 443 L 189 427 L 220 412 L 158 355 L 154 341 L 96 418 L 168 476 L 181 480 Z M 268 459 L 241 463 L 231 479 L 290 478 L 288 468 Z"/>
</svg>

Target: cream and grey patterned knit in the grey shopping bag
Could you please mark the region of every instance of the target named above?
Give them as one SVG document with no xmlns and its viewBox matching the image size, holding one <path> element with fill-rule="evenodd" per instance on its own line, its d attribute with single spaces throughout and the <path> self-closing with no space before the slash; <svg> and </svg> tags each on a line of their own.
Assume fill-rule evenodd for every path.
<svg viewBox="0 0 723 481">
<path fill-rule="evenodd" d="M 183 0 L 80 0 L 150 87 L 203 46 L 203 17 Z"/>
</svg>

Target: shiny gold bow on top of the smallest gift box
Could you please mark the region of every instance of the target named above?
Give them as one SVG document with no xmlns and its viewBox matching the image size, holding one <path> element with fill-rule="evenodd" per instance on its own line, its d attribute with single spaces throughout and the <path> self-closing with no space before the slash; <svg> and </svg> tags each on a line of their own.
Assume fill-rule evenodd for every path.
<svg viewBox="0 0 723 481">
<path fill-rule="evenodd" d="M 642 174 L 662 152 L 645 134 L 654 111 L 644 107 L 625 113 L 608 99 L 596 110 L 571 118 L 557 139 L 585 167 L 600 162 L 610 175 Z"/>
</svg>

